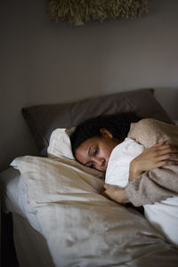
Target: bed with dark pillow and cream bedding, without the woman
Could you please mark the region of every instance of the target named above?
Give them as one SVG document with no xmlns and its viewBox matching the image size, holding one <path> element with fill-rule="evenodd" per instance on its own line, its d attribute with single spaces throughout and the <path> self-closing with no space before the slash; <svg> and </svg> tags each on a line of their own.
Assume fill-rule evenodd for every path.
<svg viewBox="0 0 178 267">
<path fill-rule="evenodd" d="M 73 127 L 120 111 L 173 123 L 153 89 L 22 109 L 40 157 L 15 158 L 0 174 L 19 266 L 178 265 L 178 248 L 134 208 L 105 198 L 103 174 L 81 166 L 71 153 Z"/>
</svg>

